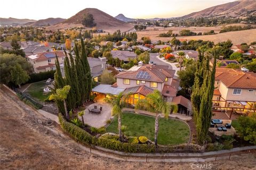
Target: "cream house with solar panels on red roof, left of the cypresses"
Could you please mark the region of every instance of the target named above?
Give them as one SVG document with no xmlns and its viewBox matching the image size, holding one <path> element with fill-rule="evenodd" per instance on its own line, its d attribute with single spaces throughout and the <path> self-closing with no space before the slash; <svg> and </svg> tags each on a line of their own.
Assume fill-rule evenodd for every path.
<svg viewBox="0 0 256 170">
<path fill-rule="evenodd" d="M 34 72 L 39 73 L 55 70 L 56 56 L 58 57 L 60 63 L 64 62 L 65 54 L 63 51 L 38 53 L 26 56 L 26 58 L 27 61 L 33 65 Z"/>
</svg>

